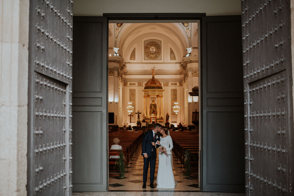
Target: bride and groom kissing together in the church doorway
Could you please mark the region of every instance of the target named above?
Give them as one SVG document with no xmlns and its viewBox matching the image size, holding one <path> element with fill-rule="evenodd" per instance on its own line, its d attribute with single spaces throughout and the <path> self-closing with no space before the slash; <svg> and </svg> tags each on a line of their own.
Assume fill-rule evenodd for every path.
<svg viewBox="0 0 294 196">
<path fill-rule="evenodd" d="M 143 166 L 143 186 L 146 188 L 147 173 L 150 165 L 150 187 L 155 188 L 154 173 L 158 153 L 158 172 L 156 188 L 175 188 L 175 179 L 173 177 L 172 154 L 173 141 L 169 135 L 168 128 L 155 123 L 152 131 L 147 131 L 142 141 L 142 153 L 144 159 Z"/>
</svg>

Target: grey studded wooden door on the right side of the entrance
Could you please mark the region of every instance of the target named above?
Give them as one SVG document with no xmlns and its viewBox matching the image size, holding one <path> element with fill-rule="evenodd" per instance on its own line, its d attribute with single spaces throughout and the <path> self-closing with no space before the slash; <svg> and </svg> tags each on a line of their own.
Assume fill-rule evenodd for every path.
<svg viewBox="0 0 294 196">
<path fill-rule="evenodd" d="M 293 195 L 290 26 L 290 1 L 242 0 L 246 195 Z"/>
</svg>

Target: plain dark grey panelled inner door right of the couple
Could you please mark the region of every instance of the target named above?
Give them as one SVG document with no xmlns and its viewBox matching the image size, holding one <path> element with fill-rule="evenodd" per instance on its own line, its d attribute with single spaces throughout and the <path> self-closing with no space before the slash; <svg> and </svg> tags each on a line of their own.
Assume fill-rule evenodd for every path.
<svg viewBox="0 0 294 196">
<path fill-rule="evenodd" d="M 241 16 L 201 25 L 203 191 L 245 192 Z"/>
</svg>

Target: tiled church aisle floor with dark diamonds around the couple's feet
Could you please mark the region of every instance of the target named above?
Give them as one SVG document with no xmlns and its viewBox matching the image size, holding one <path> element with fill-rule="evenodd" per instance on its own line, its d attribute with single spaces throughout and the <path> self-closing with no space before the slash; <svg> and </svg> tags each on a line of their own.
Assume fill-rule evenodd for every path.
<svg viewBox="0 0 294 196">
<path fill-rule="evenodd" d="M 118 175 L 118 172 L 115 170 L 109 171 L 109 190 L 131 190 L 131 191 L 157 191 L 157 190 L 167 190 L 167 191 L 200 191 L 198 187 L 198 178 L 195 177 L 186 177 L 184 175 L 184 169 L 181 164 L 178 162 L 176 157 L 173 155 L 173 175 L 175 180 L 178 181 L 175 189 L 163 189 L 155 188 L 152 189 L 149 184 L 150 171 L 147 175 L 146 189 L 142 188 L 143 185 L 143 157 L 141 156 L 141 145 L 139 146 L 137 152 L 131 160 L 131 163 L 126 168 L 127 172 L 124 179 L 118 179 L 118 177 L 113 177 L 111 175 Z M 149 168 L 150 170 L 150 168 Z M 158 158 L 156 159 L 156 168 L 154 175 L 154 186 L 156 187 L 156 176 L 158 171 Z"/>
</svg>

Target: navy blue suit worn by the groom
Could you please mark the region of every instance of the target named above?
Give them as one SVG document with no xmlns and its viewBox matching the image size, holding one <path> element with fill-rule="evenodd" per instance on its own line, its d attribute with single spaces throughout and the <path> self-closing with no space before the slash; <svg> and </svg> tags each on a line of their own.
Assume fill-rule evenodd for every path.
<svg viewBox="0 0 294 196">
<path fill-rule="evenodd" d="M 150 163 L 150 183 L 153 184 L 154 182 L 154 172 L 155 172 L 155 163 L 157 157 L 157 150 L 160 145 L 156 144 L 156 147 L 151 144 L 151 142 L 156 143 L 160 141 L 160 136 L 158 134 L 155 135 L 155 140 L 153 140 L 153 131 L 147 131 L 143 137 L 142 141 L 142 153 L 144 159 L 144 166 L 143 166 L 143 183 L 146 184 L 147 182 L 147 173 Z M 153 151 L 152 151 L 153 149 Z M 144 157 L 143 153 L 147 153 L 147 158 Z"/>
</svg>

